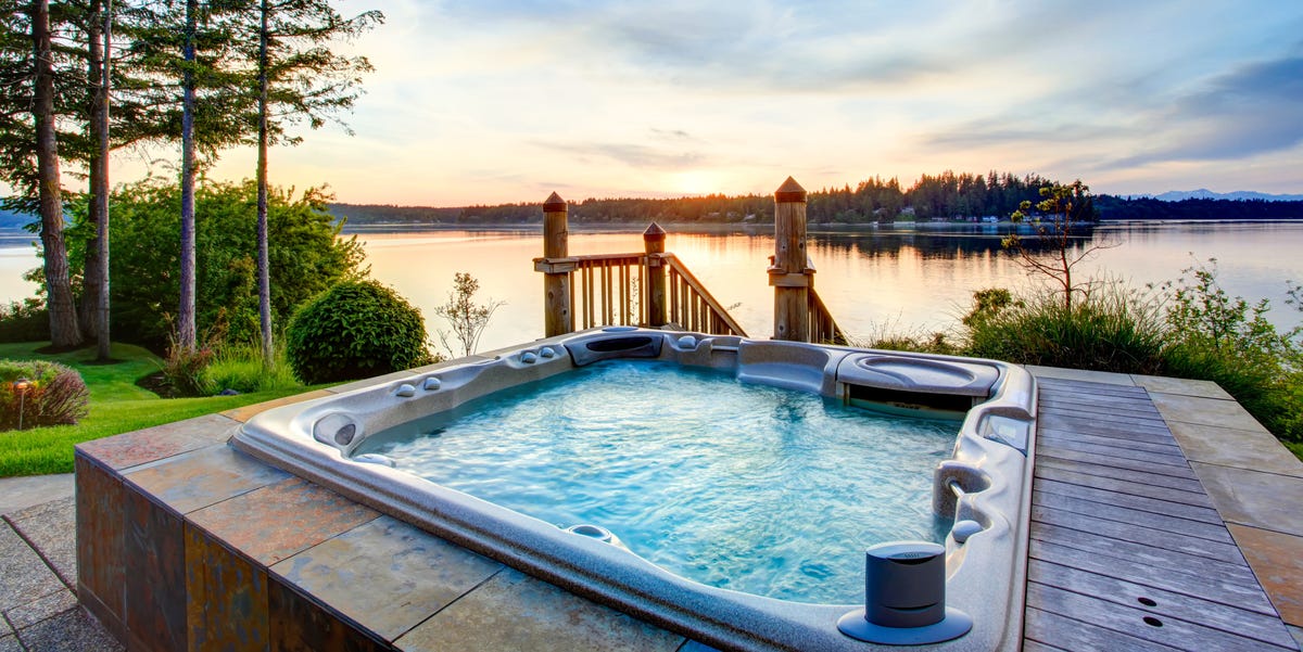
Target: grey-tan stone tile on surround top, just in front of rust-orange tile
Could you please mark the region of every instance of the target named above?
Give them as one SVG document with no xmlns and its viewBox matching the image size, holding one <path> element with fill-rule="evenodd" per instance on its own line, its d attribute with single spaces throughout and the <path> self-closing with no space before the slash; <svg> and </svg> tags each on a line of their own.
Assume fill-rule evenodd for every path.
<svg viewBox="0 0 1303 652">
<path fill-rule="evenodd" d="M 495 561 L 380 517 L 281 561 L 271 571 L 394 640 L 500 569 Z"/>
</svg>

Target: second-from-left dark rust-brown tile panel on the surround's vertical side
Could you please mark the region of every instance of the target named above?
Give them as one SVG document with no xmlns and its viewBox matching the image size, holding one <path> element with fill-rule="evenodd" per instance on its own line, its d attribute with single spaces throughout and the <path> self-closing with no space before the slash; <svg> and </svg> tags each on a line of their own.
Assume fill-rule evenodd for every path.
<svg viewBox="0 0 1303 652">
<path fill-rule="evenodd" d="M 128 648 L 186 648 L 185 541 L 181 517 L 126 489 L 125 616 Z"/>
</svg>

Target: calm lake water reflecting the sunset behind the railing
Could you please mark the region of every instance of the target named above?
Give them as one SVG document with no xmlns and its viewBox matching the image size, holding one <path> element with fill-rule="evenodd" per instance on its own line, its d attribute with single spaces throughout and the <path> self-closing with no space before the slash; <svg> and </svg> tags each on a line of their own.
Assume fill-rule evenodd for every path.
<svg viewBox="0 0 1303 652">
<path fill-rule="evenodd" d="M 572 226 L 572 255 L 642 250 L 641 229 L 585 232 Z M 774 238 L 765 229 L 719 228 L 685 233 L 667 228 L 676 254 L 753 337 L 773 334 L 773 289 L 765 268 Z M 838 323 L 852 336 L 926 333 L 952 328 L 982 288 L 1023 288 L 1032 281 L 999 241 L 1007 226 L 896 226 L 812 233 L 814 284 Z M 542 236 L 533 230 L 357 232 L 366 242 L 371 276 L 394 286 L 426 315 L 431 336 L 444 328 L 434 307 L 446 302 L 456 272 L 480 280 L 478 298 L 504 301 L 481 350 L 542 337 Z M 0 232 L 0 302 L 29 297 L 23 271 L 39 264 L 33 237 Z M 1079 246 L 1118 243 L 1078 269 L 1122 278 L 1136 288 L 1175 280 L 1197 260 L 1216 258 L 1231 295 L 1272 302 L 1272 320 L 1300 323 L 1286 306 L 1286 281 L 1303 282 L 1303 221 L 1108 223 Z"/>
</svg>

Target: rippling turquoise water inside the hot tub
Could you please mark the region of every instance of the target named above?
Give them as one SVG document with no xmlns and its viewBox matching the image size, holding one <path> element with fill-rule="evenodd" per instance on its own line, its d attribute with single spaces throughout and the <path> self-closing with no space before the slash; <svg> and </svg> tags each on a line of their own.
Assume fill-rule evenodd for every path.
<svg viewBox="0 0 1303 652">
<path fill-rule="evenodd" d="M 618 360 L 377 433 L 358 453 L 562 527 L 599 524 L 705 584 L 853 604 L 864 548 L 943 539 L 932 469 L 958 431 Z"/>
</svg>

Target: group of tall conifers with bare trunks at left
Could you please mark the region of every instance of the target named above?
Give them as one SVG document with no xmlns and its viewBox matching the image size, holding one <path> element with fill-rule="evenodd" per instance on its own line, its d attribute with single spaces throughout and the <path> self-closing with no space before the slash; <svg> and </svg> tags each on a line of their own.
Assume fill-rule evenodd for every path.
<svg viewBox="0 0 1303 652">
<path fill-rule="evenodd" d="M 375 10 L 345 17 L 328 0 L 0 0 L 0 180 L 14 189 L 3 207 L 39 216 L 51 345 L 96 340 L 108 358 L 107 163 L 136 147 L 177 156 L 177 177 L 155 183 L 176 190 L 179 238 L 158 254 L 177 252 L 175 338 L 181 350 L 195 347 L 197 182 L 223 150 L 250 144 L 270 358 L 267 150 L 296 144 L 292 126 L 319 128 L 353 105 L 370 64 L 331 47 L 380 21 Z M 64 187 L 68 180 L 85 185 Z M 81 238 L 73 243 L 69 215 Z"/>
</svg>

